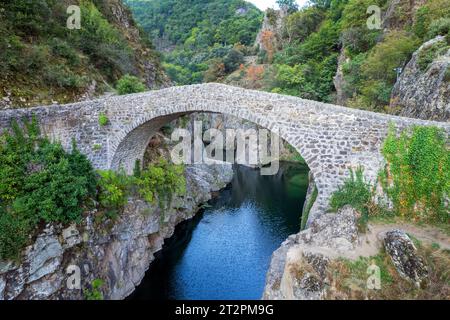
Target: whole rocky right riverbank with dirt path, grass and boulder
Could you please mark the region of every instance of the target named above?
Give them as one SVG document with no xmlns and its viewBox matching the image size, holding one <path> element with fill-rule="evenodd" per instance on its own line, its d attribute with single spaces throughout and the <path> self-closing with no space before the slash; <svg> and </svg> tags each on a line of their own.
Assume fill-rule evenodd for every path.
<svg viewBox="0 0 450 320">
<path fill-rule="evenodd" d="M 290 236 L 273 256 L 263 299 L 448 299 L 448 236 L 402 224 L 357 227 L 344 207 Z"/>
</svg>

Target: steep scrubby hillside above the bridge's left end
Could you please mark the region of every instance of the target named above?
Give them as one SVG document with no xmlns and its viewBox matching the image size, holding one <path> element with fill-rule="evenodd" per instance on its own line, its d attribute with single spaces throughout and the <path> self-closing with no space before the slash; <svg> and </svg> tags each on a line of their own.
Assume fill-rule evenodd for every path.
<svg viewBox="0 0 450 320">
<path fill-rule="evenodd" d="M 69 5 L 80 6 L 81 29 L 67 28 Z M 0 3 L 0 107 L 90 98 L 126 74 L 147 87 L 166 81 L 120 0 Z"/>
</svg>

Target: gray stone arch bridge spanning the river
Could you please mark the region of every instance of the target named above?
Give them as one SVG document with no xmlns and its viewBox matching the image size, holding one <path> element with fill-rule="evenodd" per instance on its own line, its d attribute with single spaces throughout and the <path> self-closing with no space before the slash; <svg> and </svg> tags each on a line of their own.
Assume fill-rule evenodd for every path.
<svg viewBox="0 0 450 320">
<path fill-rule="evenodd" d="M 35 115 L 42 132 L 69 148 L 72 139 L 98 169 L 131 170 L 142 159 L 151 136 L 164 124 L 192 112 L 233 115 L 267 129 L 277 129 L 306 160 L 314 174 L 318 198 L 310 221 L 328 206 L 330 194 L 349 168 L 362 166 L 375 179 L 390 123 L 398 129 L 448 123 L 395 117 L 295 97 L 221 84 L 201 84 L 149 91 L 67 105 L 0 111 L 0 128 L 13 119 Z M 99 125 L 105 114 L 109 123 Z"/>
</svg>

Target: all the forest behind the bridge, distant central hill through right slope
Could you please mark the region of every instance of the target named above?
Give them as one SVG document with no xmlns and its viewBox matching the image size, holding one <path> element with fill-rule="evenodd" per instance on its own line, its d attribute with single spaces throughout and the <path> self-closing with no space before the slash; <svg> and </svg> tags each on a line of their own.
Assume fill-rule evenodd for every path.
<svg viewBox="0 0 450 320">
<path fill-rule="evenodd" d="M 450 29 L 450 0 L 311 0 L 302 8 L 279 0 L 258 37 L 261 13 L 244 1 L 126 2 L 166 52 L 176 84 L 218 81 L 381 112 L 412 53 Z M 373 5 L 380 21 L 368 28 Z M 422 68 L 448 48 L 447 40 L 423 54 Z"/>
</svg>

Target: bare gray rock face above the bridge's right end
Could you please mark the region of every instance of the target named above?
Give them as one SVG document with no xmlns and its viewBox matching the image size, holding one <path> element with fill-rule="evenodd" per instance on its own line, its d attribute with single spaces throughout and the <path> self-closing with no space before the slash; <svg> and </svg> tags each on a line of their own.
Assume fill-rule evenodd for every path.
<svg viewBox="0 0 450 320">
<path fill-rule="evenodd" d="M 392 92 L 393 113 L 427 120 L 450 120 L 450 50 L 436 57 L 425 71 L 418 64 L 424 50 L 445 41 L 438 36 L 413 54 Z"/>
</svg>

